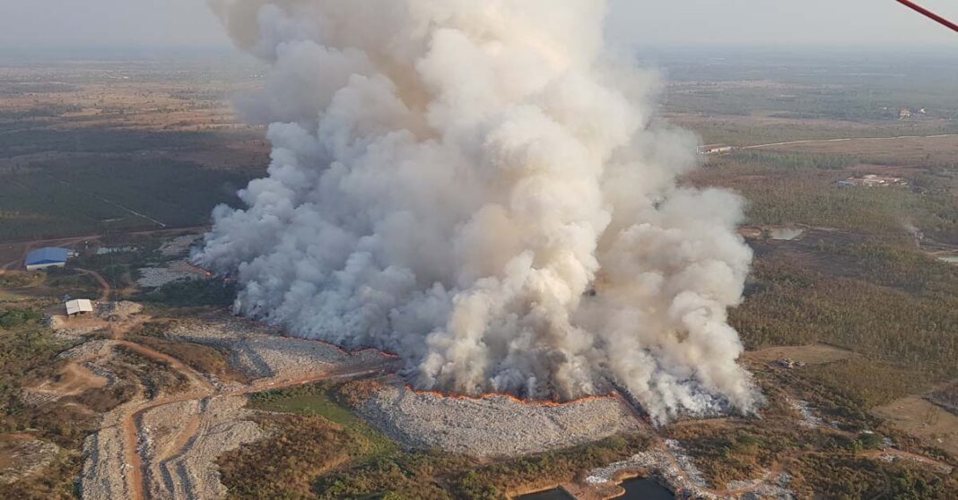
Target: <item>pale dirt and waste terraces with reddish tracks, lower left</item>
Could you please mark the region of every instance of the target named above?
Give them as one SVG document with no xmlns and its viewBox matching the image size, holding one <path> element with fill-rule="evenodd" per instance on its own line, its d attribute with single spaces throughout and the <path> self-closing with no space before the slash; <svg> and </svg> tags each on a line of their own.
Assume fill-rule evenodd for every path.
<svg viewBox="0 0 958 500">
<path fill-rule="evenodd" d="M 328 344 L 277 335 L 225 314 L 179 325 L 171 338 L 230 352 L 251 382 L 222 382 L 162 352 L 131 341 L 88 342 L 66 352 L 73 364 L 108 360 L 117 348 L 155 360 L 179 374 L 186 387 L 147 398 L 142 390 L 103 416 L 101 431 L 84 444 L 80 491 L 85 500 L 117 498 L 222 498 L 217 457 L 262 439 L 243 409 L 245 396 L 337 376 L 388 369 L 393 358 L 376 352 L 350 354 Z"/>
</svg>

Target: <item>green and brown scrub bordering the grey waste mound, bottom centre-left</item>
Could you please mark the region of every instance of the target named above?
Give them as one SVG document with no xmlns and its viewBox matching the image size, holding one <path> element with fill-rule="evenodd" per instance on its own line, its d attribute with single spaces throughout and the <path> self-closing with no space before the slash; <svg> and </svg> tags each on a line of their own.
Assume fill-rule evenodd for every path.
<svg viewBox="0 0 958 500">
<path fill-rule="evenodd" d="M 317 384 L 253 395 L 250 407 L 286 415 L 262 420 L 275 437 L 220 459 L 228 496 L 502 499 L 530 484 L 572 480 L 649 446 L 645 437 L 617 437 L 495 464 L 442 453 L 407 453 L 344 405 L 345 400 L 361 399 L 368 385 Z"/>
</svg>

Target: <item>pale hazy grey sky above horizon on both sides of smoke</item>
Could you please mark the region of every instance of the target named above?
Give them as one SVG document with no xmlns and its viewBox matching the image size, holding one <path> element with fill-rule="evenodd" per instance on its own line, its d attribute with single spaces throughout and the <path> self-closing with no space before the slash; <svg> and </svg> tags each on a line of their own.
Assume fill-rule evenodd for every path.
<svg viewBox="0 0 958 500">
<path fill-rule="evenodd" d="M 615 41 L 628 44 L 933 44 L 958 50 L 958 34 L 905 10 L 894 0 L 611 3 L 610 33 Z M 958 0 L 920 3 L 958 20 Z M 0 0 L 3 48 L 197 44 L 227 44 L 204 0 Z"/>
</svg>

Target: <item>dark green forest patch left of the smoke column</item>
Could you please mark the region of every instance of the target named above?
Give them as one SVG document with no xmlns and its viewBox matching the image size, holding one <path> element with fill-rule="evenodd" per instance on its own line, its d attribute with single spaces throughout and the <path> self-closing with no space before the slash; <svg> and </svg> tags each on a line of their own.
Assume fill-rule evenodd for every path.
<svg viewBox="0 0 958 500">
<path fill-rule="evenodd" d="M 203 225 L 218 204 L 236 203 L 236 191 L 253 176 L 169 159 L 123 157 L 15 170 L 0 175 L 0 240 L 160 228 L 146 217 L 171 227 Z"/>
</svg>

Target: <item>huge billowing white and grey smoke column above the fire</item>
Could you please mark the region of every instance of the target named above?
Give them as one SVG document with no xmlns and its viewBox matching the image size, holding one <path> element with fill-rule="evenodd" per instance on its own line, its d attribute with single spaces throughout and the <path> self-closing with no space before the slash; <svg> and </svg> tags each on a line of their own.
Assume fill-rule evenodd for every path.
<svg viewBox="0 0 958 500">
<path fill-rule="evenodd" d="M 239 313 L 399 352 L 422 389 L 577 398 L 659 421 L 759 398 L 726 323 L 741 201 L 677 188 L 696 138 L 650 125 L 598 0 L 219 0 L 272 72 L 269 177 L 195 260 Z"/>
</svg>

